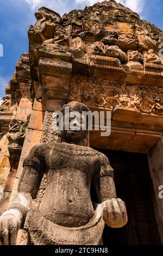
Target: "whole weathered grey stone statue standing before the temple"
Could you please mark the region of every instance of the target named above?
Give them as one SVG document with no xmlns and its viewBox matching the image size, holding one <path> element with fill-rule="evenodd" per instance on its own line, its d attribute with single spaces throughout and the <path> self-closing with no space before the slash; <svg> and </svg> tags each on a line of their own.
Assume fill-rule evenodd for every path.
<svg viewBox="0 0 163 256">
<path fill-rule="evenodd" d="M 62 113 L 65 107 L 70 113 L 78 111 L 81 117 L 82 111 L 89 111 L 78 102 L 65 105 Z M 1 244 L 16 243 L 25 217 L 32 245 L 101 245 L 104 224 L 120 228 L 127 223 L 126 206 L 116 197 L 109 160 L 82 146 L 87 131 L 78 129 L 79 125 L 76 121 L 76 127 L 61 132 L 62 143 L 36 145 L 24 160 L 17 197 L 0 217 Z M 44 173 L 47 185 L 39 204 L 35 198 Z M 96 187 L 95 203 L 91 184 Z"/>
</svg>

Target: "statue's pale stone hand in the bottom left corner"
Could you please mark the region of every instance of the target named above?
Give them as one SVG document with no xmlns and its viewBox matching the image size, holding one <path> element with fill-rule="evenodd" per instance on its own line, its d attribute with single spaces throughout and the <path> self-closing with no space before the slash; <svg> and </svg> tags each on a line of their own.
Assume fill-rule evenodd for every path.
<svg viewBox="0 0 163 256">
<path fill-rule="evenodd" d="M 16 245 L 16 237 L 20 222 L 12 214 L 0 217 L 0 245 Z"/>
</svg>

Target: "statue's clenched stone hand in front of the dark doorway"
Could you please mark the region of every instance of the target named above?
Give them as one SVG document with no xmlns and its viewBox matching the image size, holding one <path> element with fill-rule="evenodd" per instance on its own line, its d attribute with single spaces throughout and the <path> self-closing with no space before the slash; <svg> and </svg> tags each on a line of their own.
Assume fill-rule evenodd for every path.
<svg viewBox="0 0 163 256">
<path fill-rule="evenodd" d="M 127 211 L 126 205 L 120 198 L 112 198 L 102 203 L 103 220 L 111 228 L 122 228 L 126 225 Z"/>
</svg>

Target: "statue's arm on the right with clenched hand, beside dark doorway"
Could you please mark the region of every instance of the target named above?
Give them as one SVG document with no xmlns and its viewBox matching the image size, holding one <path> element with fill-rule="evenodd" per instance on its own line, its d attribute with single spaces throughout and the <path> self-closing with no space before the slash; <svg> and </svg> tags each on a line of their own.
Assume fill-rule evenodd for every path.
<svg viewBox="0 0 163 256">
<path fill-rule="evenodd" d="M 101 158 L 99 192 L 103 207 L 103 220 L 109 227 L 121 228 L 126 225 L 128 220 L 126 205 L 116 196 L 114 170 L 111 168 L 108 158 L 103 154 Z"/>
</svg>

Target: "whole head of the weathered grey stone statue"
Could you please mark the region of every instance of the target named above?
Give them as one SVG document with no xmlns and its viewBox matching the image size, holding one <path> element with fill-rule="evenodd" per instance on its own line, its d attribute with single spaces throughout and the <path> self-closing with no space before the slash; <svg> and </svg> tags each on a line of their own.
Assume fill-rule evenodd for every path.
<svg viewBox="0 0 163 256">
<path fill-rule="evenodd" d="M 67 111 L 67 107 L 69 109 L 69 114 L 66 116 L 65 112 Z M 82 130 L 82 121 L 86 122 L 86 120 L 83 120 L 84 115 L 82 115 L 82 113 L 88 111 L 90 111 L 90 109 L 86 105 L 77 101 L 67 103 L 61 108 L 63 114 L 63 131 L 61 131 L 61 138 L 63 141 L 77 143 L 86 138 L 87 129 Z M 75 112 L 78 114 L 79 118 L 74 118 Z M 65 129 L 67 122 L 69 123 L 69 130 Z"/>
</svg>

